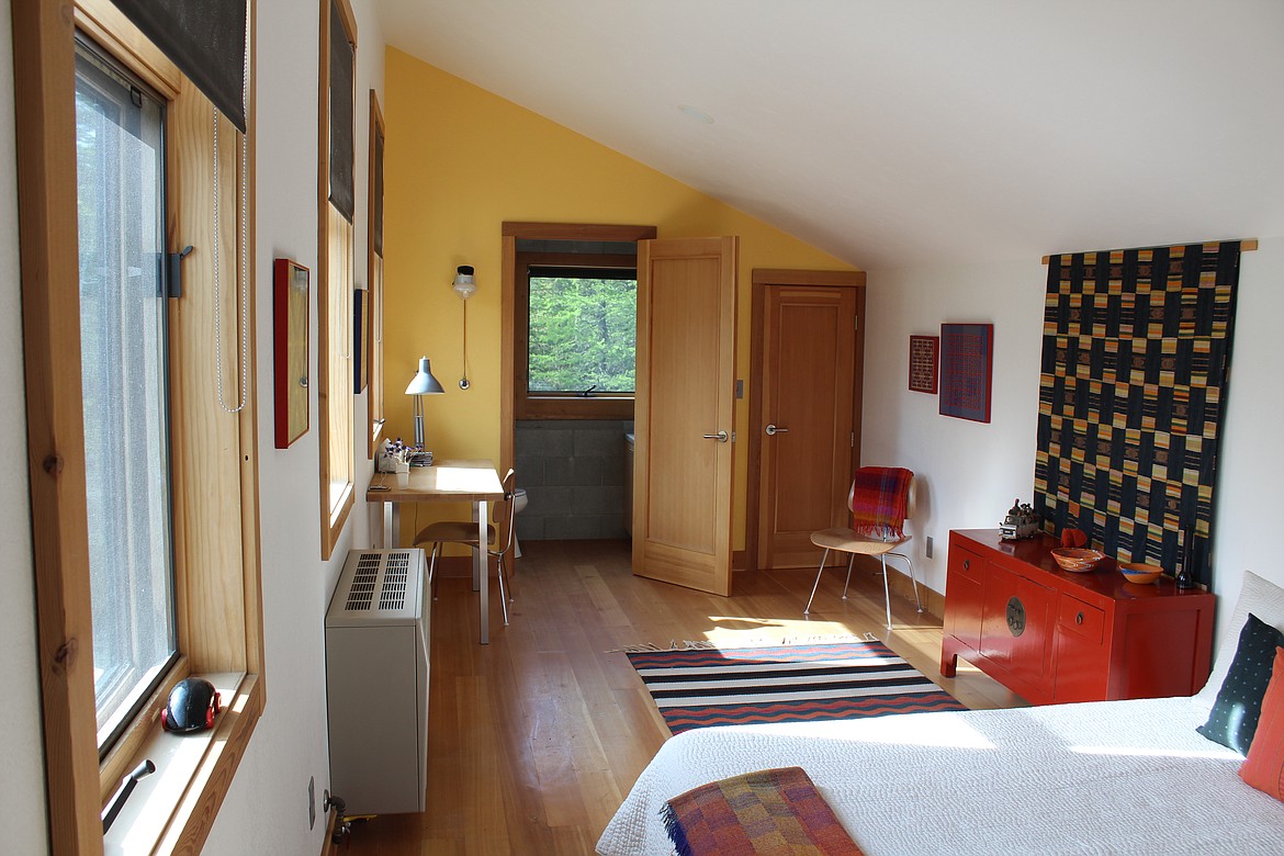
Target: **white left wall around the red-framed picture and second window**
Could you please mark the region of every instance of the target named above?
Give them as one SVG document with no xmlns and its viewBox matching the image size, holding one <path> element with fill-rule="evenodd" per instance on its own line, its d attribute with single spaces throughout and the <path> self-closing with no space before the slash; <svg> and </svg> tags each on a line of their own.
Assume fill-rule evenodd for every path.
<svg viewBox="0 0 1284 856">
<path fill-rule="evenodd" d="M 316 856 L 325 817 L 317 806 L 308 830 L 307 785 L 317 801 L 330 787 L 326 748 L 324 621 L 344 558 L 369 547 L 365 495 L 366 394 L 354 402 L 357 504 L 329 562 L 321 561 L 317 397 L 309 430 L 289 449 L 275 448 L 272 394 L 272 259 L 316 271 L 318 5 L 315 0 L 258 3 L 258 435 L 263 557 L 263 635 L 267 708 L 205 844 L 209 853 Z M 370 90 L 383 98 L 384 39 L 374 0 L 353 0 L 357 17 L 356 281 L 366 285 L 366 184 Z M 309 308 L 311 367 L 316 371 L 317 285 Z"/>
</svg>

